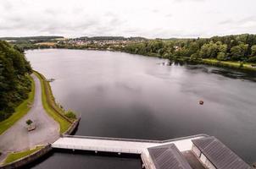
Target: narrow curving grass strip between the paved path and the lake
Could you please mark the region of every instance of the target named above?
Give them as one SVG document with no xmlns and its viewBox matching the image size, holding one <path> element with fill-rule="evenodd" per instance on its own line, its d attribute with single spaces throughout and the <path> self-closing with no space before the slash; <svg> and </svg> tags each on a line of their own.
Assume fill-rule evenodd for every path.
<svg viewBox="0 0 256 169">
<path fill-rule="evenodd" d="M 70 123 L 69 121 L 67 121 L 64 117 L 60 116 L 58 114 L 58 112 L 56 112 L 51 105 L 49 105 L 48 101 L 47 101 L 47 96 L 52 98 L 52 91 L 51 91 L 51 87 L 48 84 L 48 82 L 45 82 L 44 79 L 42 79 L 42 77 L 34 72 L 36 74 L 36 76 L 40 79 L 41 81 L 41 85 L 42 85 L 42 105 L 44 107 L 44 109 L 47 111 L 47 113 L 53 117 L 53 119 L 58 122 L 59 127 L 60 127 L 60 133 L 63 134 L 65 131 L 67 131 L 68 128 L 70 128 L 70 125 L 72 123 Z M 48 92 L 46 92 L 46 90 L 48 90 Z M 49 93 L 49 95 L 47 95 L 47 93 Z M 53 99 L 51 99 L 53 100 Z M 50 104 L 56 104 L 54 101 L 51 101 Z M 64 112 L 63 112 L 64 114 Z"/>
</svg>

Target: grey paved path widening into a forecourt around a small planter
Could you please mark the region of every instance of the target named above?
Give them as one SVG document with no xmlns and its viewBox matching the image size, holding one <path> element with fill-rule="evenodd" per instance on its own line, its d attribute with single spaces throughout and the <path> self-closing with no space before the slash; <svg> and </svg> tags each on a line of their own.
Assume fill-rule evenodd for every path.
<svg viewBox="0 0 256 169">
<path fill-rule="evenodd" d="M 40 80 L 35 74 L 35 100 L 31 110 L 11 128 L 0 135 L 0 151 L 3 154 L 9 151 L 29 149 L 37 144 L 53 143 L 59 138 L 59 126 L 52 117 L 49 117 L 42 106 L 42 89 Z M 25 121 L 31 119 L 36 124 L 36 130 L 28 132 Z M 3 156 L 3 155 L 1 155 Z M 1 157 L 0 156 L 0 161 Z M 3 159 L 2 159 L 3 160 Z"/>
</svg>

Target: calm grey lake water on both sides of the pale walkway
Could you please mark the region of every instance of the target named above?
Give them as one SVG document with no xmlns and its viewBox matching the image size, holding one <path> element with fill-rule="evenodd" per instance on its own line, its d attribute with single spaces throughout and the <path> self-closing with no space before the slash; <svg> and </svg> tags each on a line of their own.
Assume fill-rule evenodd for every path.
<svg viewBox="0 0 256 169">
<path fill-rule="evenodd" d="M 165 59 L 122 52 L 48 49 L 28 51 L 26 57 L 34 69 L 56 79 L 51 83 L 56 100 L 81 113 L 78 135 L 172 139 L 209 134 L 249 164 L 256 162 L 255 74 L 168 65 Z M 141 168 L 137 159 L 61 152 L 33 167 L 70 165 Z"/>
</svg>

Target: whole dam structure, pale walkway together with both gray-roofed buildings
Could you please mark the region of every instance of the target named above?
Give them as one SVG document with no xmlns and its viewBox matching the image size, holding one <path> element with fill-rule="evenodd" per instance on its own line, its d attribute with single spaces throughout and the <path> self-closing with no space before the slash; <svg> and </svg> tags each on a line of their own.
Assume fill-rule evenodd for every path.
<svg viewBox="0 0 256 169">
<path fill-rule="evenodd" d="M 63 135 L 52 147 L 62 150 L 140 155 L 142 168 L 146 169 L 251 168 L 219 139 L 206 134 L 163 141 Z"/>
</svg>

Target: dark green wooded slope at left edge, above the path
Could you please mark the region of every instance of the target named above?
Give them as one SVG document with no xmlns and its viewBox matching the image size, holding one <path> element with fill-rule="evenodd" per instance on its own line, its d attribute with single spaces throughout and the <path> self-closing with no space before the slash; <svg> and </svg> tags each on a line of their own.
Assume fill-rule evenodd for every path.
<svg viewBox="0 0 256 169">
<path fill-rule="evenodd" d="M 0 41 L 0 121 L 14 113 L 14 108 L 28 98 L 32 69 L 16 46 Z"/>
</svg>

